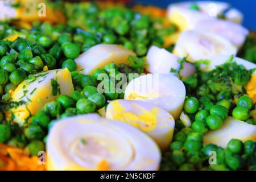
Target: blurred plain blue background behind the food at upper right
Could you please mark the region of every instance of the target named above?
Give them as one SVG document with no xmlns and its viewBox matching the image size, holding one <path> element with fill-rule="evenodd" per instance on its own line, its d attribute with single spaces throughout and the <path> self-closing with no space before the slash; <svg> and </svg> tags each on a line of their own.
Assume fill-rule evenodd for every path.
<svg viewBox="0 0 256 182">
<path fill-rule="evenodd" d="M 184 1 L 189 0 L 138 0 L 135 2 L 166 8 L 170 3 Z M 232 7 L 242 11 L 243 25 L 256 31 L 256 0 L 222 0 L 221 2 L 228 2 Z"/>
</svg>

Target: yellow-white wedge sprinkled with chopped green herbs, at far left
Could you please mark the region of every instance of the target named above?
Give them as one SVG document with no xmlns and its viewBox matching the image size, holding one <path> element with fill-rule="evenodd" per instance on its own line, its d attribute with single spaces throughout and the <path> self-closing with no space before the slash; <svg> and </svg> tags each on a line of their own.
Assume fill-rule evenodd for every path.
<svg viewBox="0 0 256 182">
<path fill-rule="evenodd" d="M 71 96 L 74 88 L 71 73 L 67 68 L 55 69 L 47 72 L 36 73 L 32 77 L 24 80 L 14 90 L 11 101 L 20 103 L 17 107 L 13 107 L 10 111 L 6 111 L 6 117 L 11 118 L 14 114 L 13 121 L 19 125 L 23 125 L 26 119 L 36 114 L 44 104 L 55 101 L 58 94 L 52 93 L 52 80 L 59 84 L 60 92 L 58 94 L 66 94 Z"/>
</svg>

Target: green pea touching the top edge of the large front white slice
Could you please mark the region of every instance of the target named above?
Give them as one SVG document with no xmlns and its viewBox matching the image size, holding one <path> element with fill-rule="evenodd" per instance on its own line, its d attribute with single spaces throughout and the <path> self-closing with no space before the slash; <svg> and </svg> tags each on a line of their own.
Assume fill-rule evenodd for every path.
<svg viewBox="0 0 256 182">
<path fill-rule="evenodd" d="M 96 110 L 96 104 L 86 98 L 82 98 L 77 101 L 76 109 L 82 114 L 93 113 Z"/>
</svg>

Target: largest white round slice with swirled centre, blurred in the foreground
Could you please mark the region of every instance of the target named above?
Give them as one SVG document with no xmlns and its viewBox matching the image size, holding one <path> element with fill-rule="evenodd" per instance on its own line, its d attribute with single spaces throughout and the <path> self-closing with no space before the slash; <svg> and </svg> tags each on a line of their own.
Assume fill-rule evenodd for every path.
<svg viewBox="0 0 256 182">
<path fill-rule="evenodd" d="M 48 170 L 157 170 L 159 163 L 154 140 L 97 114 L 61 119 L 47 138 Z"/>
</svg>

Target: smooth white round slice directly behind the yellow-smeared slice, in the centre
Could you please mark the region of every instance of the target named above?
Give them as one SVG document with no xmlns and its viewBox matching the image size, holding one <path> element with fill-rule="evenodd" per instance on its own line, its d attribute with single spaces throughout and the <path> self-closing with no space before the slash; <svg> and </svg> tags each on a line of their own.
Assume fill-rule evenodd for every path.
<svg viewBox="0 0 256 182">
<path fill-rule="evenodd" d="M 125 90 L 125 100 L 150 102 L 179 118 L 185 100 L 185 86 L 170 74 L 147 74 L 131 80 Z"/>
</svg>

